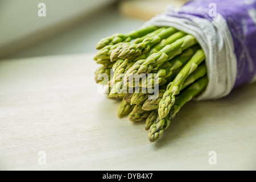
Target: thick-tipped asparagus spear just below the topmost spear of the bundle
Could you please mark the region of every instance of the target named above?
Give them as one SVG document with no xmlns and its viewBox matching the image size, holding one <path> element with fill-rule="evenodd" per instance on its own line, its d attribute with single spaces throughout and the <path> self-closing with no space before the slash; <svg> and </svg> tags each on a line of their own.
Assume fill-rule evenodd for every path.
<svg viewBox="0 0 256 182">
<path fill-rule="evenodd" d="M 158 44 L 161 40 L 168 38 L 168 36 L 174 34 L 177 30 L 173 27 L 168 27 L 162 31 L 160 31 L 155 36 L 147 37 L 143 40 L 143 42 L 139 44 L 131 44 L 128 46 L 118 47 L 113 51 L 110 59 L 113 60 L 115 57 L 119 57 L 121 59 L 135 59 L 137 56 L 147 53 L 150 49 Z"/>
</svg>

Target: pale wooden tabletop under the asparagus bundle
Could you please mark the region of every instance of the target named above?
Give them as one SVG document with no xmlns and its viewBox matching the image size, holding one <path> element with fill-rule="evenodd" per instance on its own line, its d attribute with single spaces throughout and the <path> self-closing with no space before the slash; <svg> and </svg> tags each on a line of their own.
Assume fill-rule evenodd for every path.
<svg viewBox="0 0 256 182">
<path fill-rule="evenodd" d="M 256 169 L 256 84 L 188 102 L 150 143 L 98 92 L 92 57 L 0 61 L 1 170 Z"/>
</svg>

